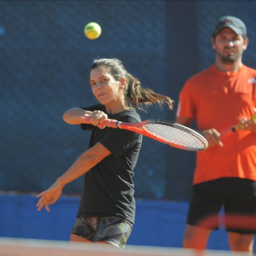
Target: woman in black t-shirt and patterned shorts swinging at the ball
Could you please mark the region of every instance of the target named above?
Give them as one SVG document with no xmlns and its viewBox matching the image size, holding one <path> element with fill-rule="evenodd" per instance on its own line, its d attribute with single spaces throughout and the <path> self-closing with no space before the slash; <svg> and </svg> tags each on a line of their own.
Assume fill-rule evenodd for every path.
<svg viewBox="0 0 256 256">
<path fill-rule="evenodd" d="M 102 122 L 108 118 L 122 122 L 140 122 L 136 108 L 172 100 L 151 89 L 129 74 L 120 60 L 94 60 L 90 72 L 92 93 L 100 104 L 71 108 L 64 113 L 68 124 L 81 124 L 92 131 L 89 149 L 37 197 L 40 211 L 56 202 L 63 187 L 85 174 L 80 207 L 70 236 L 71 241 L 107 242 L 124 248 L 135 219 L 133 169 L 140 152 L 142 135 L 115 128 Z M 82 116 L 91 115 L 91 124 L 83 124 Z M 111 228 L 110 228 L 111 227 Z"/>
</svg>

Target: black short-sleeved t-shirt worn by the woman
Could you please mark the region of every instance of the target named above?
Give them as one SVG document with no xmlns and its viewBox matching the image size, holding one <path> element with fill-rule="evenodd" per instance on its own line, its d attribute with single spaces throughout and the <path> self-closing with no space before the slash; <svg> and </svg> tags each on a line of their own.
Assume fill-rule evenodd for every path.
<svg viewBox="0 0 256 256">
<path fill-rule="evenodd" d="M 105 107 L 100 104 L 83 109 L 106 112 Z M 108 118 L 127 123 L 141 121 L 135 109 L 108 114 Z M 132 177 L 140 152 L 142 135 L 119 128 L 100 129 L 90 124 L 81 124 L 81 128 L 92 131 L 90 148 L 100 142 L 112 154 L 85 173 L 78 215 L 116 216 L 134 223 L 135 199 Z"/>
</svg>

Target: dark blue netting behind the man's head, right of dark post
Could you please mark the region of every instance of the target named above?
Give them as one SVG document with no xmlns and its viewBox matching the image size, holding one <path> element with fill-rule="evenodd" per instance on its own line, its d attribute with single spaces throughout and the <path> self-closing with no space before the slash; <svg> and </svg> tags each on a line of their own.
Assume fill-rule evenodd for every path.
<svg viewBox="0 0 256 256">
<path fill-rule="evenodd" d="M 215 58 L 211 50 L 212 28 L 221 16 L 236 16 L 244 21 L 249 45 L 243 55 L 245 65 L 256 68 L 256 1 L 197 1 L 198 19 L 198 61 L 199 68 L 210 66 Z"/>
</svg>

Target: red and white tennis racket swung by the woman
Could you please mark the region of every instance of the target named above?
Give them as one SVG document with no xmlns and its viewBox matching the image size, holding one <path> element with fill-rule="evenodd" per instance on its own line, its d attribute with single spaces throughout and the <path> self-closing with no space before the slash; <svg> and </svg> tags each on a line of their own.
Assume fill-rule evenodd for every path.
<svg viewBox="0 0 256 256">
<path fill-rule="evenodd" d="M 85 124 L 90 124 L 90 115 L 83 117 Z M 111 128 L 126 129 L 140 133 L 164 144 L 189 151 L 203 151 L 208 147 L 207 140 L 198 132 L 183 126 L 163 120 L 145 120 L 138 123 L 124 123 L 107 119 L 102 123 Z"/>
</svg>

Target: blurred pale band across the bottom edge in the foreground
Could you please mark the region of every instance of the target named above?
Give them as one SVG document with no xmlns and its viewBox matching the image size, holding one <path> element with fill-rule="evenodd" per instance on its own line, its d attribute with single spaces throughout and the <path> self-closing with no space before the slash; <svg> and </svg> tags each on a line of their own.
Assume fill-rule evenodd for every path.
<svg viewBox="0 0 256 256">
<path fill-rule="evenodd" d="M 194 250 L 127 245 L 120 250 L 112 245 L 68 241 L 0 238 L 0 256 L 199 256 Z M 248 256 L 248 253 L 206 250 L 204 256 Z"/>
</svg>

